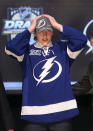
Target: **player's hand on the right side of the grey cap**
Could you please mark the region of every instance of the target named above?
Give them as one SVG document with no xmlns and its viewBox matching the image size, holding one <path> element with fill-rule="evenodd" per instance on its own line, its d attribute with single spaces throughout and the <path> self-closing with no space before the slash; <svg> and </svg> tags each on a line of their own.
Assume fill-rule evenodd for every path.
<svg viewBox="0 0 93 131">
<path fill-rule="evenodd" d="M 62 25 L 59 24 L 59 23 L 55 20 L 54 17 L 52 17 L 52 16 L 50 16 L 50 15 L 46 15 L 46 14 L 43 14 L 42 16 L 45 16 L 45 17 L 47 17 L 47 18 L 50 20 L 50 23 L 51 23 L 51 25 L 52 25 L 52 27 L 53 27 L 54 29 L 57 29 L 57 30 L 59 30 L 59 31 L 61 31 L 61 32 L 63 31 Z"/>
</svg>

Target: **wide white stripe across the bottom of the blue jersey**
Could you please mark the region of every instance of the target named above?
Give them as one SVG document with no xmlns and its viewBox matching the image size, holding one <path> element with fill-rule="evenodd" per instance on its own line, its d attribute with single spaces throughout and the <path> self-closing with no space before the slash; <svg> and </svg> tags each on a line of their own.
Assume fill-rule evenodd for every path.
<svg viewBox="0 0 93 131">
<path fill-rule="evenodd" d="M 73 99 L 44 106 L 22 106 L 21 115 L 43 115 L 67 111 L 75 108 L 77 108 L 77 103 L 76 100 Z"/>
</svg>

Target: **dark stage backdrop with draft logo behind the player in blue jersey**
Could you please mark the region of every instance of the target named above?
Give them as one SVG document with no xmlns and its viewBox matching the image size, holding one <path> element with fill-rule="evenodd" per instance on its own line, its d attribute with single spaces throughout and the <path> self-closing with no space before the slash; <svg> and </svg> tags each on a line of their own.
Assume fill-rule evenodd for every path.
<svg viewBox="0 0 93 131">
<path fill-rule="evenodd" d="M 92 0 L 0 0 L 0 72 L 19 130 L 23 124 L 20 120 L 22 72 L 16 59 L 7 56 L 4 50 L 8 40 L 27 29 L 32 19 L 42 13 L 53 16 L 60 24 L 79 29 L 88 38 L 93 34 Z M 54 30 L 53 41 L 57 39 L 61 39 L 60 33 Z M 91 51 L 88 42 L 71 67 L 72 82 L 86 75 L 88 64 L 93 61 Z M 73 120 L 75 131 L 92 130 L 92 94 L 91 89 L 89 93 L 76 97 L 80 115 Z"/>
</svg>

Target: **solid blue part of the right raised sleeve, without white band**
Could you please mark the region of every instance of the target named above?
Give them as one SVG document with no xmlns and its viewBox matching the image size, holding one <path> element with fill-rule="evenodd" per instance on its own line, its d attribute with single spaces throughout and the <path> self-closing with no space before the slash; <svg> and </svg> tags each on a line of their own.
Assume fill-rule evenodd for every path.
<svg viewBox="0 0 93 131">
<path fill-rule="evenodd" d="M 81 31 L 68 26 L 63 26 L 61 36 L 68 40 L 67 47 L 72 52 L 81 50 L 87 43 L 87 37 Z"/>
</svg>

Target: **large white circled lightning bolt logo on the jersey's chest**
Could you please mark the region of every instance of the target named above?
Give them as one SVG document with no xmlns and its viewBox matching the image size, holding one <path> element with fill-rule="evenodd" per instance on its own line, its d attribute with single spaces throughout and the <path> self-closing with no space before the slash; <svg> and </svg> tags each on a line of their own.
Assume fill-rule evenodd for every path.
<svg viewBox="0 0 93 131">
<path fill-rule="evenodd" d="M 55 60 L 56 56 L 52 57 L 52 58 L 49 58 L 49 59 L 45 59 L 45 60 L 42 60 L 40 61 L 39 63 L 37 63 L 33 69 L 33 76 L 35 78 L 35 80 L 37 81 L 37 85 L 41 82 L 41 83 L 48 83 L 48 82 L 52 82 L 54 80 L 56 80 L 61 72 L 62 72 L 62 66 L 61 64 Z M 40 73 L 39 77 L 37 78 L 36 75 L 35 75 L 35 70 L 37 69 L 37 71 L 40 69 L 40 64 L 41 63 L 44 63 L 42 69 L 43 71 Z M 45 79 L 46 76 L 49 75 L 49 73 L 51 72 L 51 68 L 54 66 L 54 65 L 57 65 L 58 66 L 58 71 L 57 73 L 52 77 L 52 78 L 49 78 L 49 79 Z"/>
</svg>

